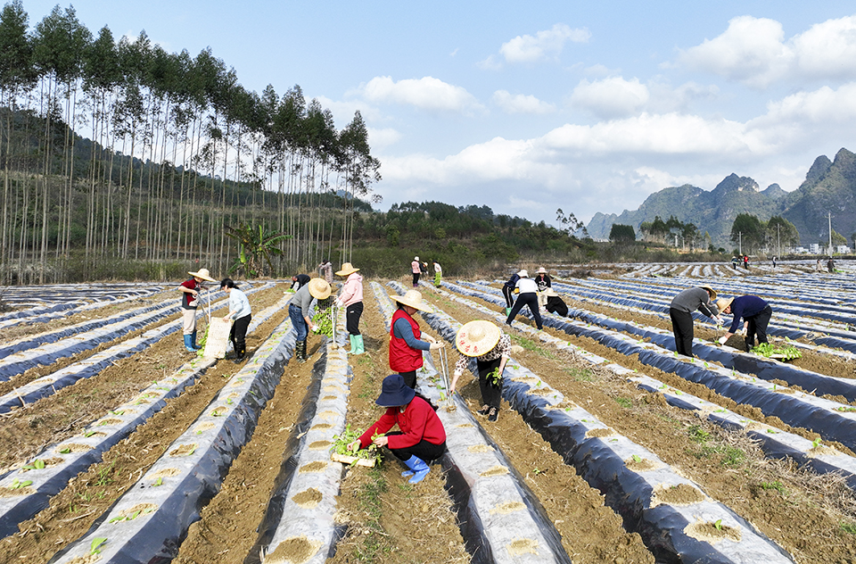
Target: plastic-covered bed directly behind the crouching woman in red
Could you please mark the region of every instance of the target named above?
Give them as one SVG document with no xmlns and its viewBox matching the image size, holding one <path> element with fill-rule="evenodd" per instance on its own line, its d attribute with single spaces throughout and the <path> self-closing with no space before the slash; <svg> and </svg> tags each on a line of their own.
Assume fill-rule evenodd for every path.
<svg viewBox="0 0 856 564">
<path fill-rule="evenodd" d="M 399 294 L 404 293 L 403 286 L 396 283 L 390 286 Z M 394 306 L 381 286 L 373 282 L 372 287 L 389 327 Z M 427 351 L 424 360 L 424 367 L 416 373 L 419 392 L 441 405 L 442 385 Z M 537 497 L 481 429 L 465 403 L 453 401 L 457 410 L 437 410 L 446 428 L 448 449 L 440 464 L 447 473 L 446 487 L 455 502 L 461 535 L 472 561 L 569 563 L 561 538 Z"/>
</svg>

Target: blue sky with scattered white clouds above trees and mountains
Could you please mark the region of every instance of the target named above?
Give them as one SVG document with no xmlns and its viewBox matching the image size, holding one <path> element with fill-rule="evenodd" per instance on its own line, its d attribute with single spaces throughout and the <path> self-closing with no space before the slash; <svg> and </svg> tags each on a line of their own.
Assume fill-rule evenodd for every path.
<svg viewBox="0 0 856 564">
<path fill-rule="evenodd" d="M 30 26 L 56 2 L 23 0 Z M 375 207 L 488 205 L 556 225 L 731 173 L 787 191 L 856 152 L 856 4 L 79 0 L 78 20 L 210 47 L 248 90 L 359 111 Z"/>
</svg>

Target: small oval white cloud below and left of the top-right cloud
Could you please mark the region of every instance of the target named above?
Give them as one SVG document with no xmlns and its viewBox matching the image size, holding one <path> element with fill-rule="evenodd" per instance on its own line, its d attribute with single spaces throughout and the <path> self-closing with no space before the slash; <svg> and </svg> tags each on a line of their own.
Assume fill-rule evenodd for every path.
<svg viewBox="0 0 856 564">
<path fill-rule="evenodd" d="M 600 118 L 611 120 L 637 113 L 648 102 L 648 88 L 638 79 L 621 77 L 595 80 L 582 79 L 573 89 L 571 104 Z"/>
</svg>

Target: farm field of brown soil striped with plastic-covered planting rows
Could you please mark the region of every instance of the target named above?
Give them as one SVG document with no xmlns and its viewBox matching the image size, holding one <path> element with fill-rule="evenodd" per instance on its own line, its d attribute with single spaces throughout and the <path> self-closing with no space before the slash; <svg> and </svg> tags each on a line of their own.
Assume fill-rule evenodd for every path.
<svg viewBox="0 0 856 564">
<path fill-rule="evenodd" d="M 174 286 L 10 288 L 0 561 L 852 562 L 856 283 L 841 269 L 553 269 L 570 317 L 501 326 L 514 352 L 497 421 L 476 414 L 471 373 L 449 398 L 425 354 L 419 389 L 449 452 L 417 485 L 389 453 L 375 469 L 329 460 L 334 435 L 381 412 L 388 296 L 408 282 L 364 281 L 366 354 L 347 354 L 340 316 L 303 364 L 282 283 L 243 285 L 242 364 L 184 351 Z M 676 355 L 669 303 L 698 284 L 764 297 L 771 341 L 802 356 L 720 346 L 703 316 L 696 358 Z M 460 325 L 504 320 L 500 286 L 420 288 L 449 368 Z M 209 309 L 225 314 L 223 296 Z"/>
</svg>

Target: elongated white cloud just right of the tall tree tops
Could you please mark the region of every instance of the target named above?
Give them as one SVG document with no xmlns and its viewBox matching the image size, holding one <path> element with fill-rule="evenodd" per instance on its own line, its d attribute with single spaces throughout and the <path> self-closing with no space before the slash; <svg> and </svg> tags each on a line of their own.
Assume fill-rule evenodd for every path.
<svg viewBox="0 0 856 564">
<path fill-rule="evenodd" d="M 360 85 L 358 93 L 375 104 L 404 104 L 433 112 L 470 112 L 483 107 L 465 88 L 440 79 L 404 79 L 375 77 Z"/>
</svg>

